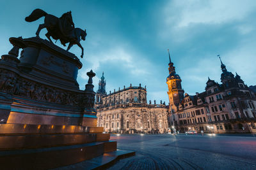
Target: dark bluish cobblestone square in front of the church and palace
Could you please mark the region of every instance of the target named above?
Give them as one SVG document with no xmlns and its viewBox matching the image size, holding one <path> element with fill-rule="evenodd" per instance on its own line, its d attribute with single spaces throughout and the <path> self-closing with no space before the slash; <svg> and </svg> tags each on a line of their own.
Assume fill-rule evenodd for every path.
<svg viewBox="0 0 256 170">
<path fill-rule="evenodd" d="M 256 169 L 253 136 L 112 135 L 111 140 L 136 156 L 109 169 Z"/>
</svg>

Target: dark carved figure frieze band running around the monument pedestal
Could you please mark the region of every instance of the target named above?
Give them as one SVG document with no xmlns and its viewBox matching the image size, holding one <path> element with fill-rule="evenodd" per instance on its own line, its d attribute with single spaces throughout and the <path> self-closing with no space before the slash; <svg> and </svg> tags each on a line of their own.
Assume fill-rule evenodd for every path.
<svg viewBox="0 0 256 170">
<path fill-rule="evenodd" d="M 27 80 L 4 69 L 0 69 L 0 91 L 20 97 L 27 97 L 36 101 L 67 104 L 70 106 L 82 106 L 83 103 L 80 101 L 84 99 L 86 108 L 93 108 L 95 100 L 92 94 L 67 92 L 56 89 Z"/>
</svg>

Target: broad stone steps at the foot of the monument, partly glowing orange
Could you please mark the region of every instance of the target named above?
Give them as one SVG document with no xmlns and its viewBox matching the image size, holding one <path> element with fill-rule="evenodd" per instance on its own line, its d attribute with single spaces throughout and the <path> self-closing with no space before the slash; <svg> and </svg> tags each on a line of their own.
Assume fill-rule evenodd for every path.
<svg viewBox="0 0 256 170">
<path fill-rule="evenodd" d="M 116 142 L 102 131 L 76 125 L 1 124 L 1 167 L 49 169 L 115 151 Z"/>
</svg>

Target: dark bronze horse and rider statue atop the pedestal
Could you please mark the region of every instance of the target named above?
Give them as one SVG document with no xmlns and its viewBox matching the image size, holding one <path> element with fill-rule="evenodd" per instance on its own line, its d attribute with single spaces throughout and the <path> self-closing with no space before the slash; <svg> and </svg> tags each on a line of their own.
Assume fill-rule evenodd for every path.
<svg viewBox="0 0 256 170">
<path fill-rule="evenodd" d="M 69 43 L 67 51 L 73 45 L 78 45 L 82 50 L 81 58 L 83 58 L 84 48 L 83 46 L 81 46 L 80 40 L 85 40 L 85 37 L 87 35 L 86 29 L 83 31 L 80 28 L 75 28 L 71 11 L 64 13 L 60 18 L 58 18 L 54 15 L 46 13 L 43 10 L 36 9 L 32 11 L 32 13 L 28 17 L 26 17 L 25 20 L 27 22 L 33 22 L 41 17 L 45 17 L 44 24 L 39 25 L 36 31 L 36 37 L 39 37 L 40 31 L 46 28 L 48 32 L 45 34 L 45 36 L 49 39 L 51 43 L 51 37 L 56 40 L 60 39 L 63 46 L 66 46 L 65 44 Z"/>
</svg>

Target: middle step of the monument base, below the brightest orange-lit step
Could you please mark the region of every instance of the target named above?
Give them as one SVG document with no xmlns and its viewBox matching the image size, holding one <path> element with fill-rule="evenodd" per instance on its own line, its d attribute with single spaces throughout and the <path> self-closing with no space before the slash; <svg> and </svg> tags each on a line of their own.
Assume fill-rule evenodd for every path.
<svg viewBox="0 0 256 170">
<path fill-rule="evenodd" d="M 96 141 L 108 141 L 110 134 L 2 134 L 0 150 L 42 148 L 52 146 L 78 145 Z"/>
</svg>

